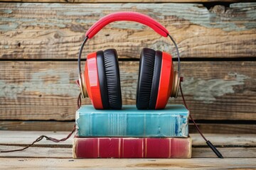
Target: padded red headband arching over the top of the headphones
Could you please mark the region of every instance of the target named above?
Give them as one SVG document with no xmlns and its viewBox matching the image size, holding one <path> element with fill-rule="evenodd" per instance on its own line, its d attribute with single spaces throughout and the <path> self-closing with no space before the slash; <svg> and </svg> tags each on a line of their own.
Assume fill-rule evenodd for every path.
<svg viewBox="0 0 256 170">
<path fill-rule="evenodd" d="M 137 12 L 116 12 L 100 18 L 99 21 L 94 23 L 89 30 L 87 30 L 85 37 L 88 37 L 89 39 L 93 38 L 94 35 L 96 35 L 102 28 L 114 21 L 134 21 L 137 23 L 142 23 L 155 30 L 156 33 L 159 33 L 161 36 L 167 37 L 169 35 L 169 31 L 164 28 L 164 26 L 149 16 Z"/>
</svg>

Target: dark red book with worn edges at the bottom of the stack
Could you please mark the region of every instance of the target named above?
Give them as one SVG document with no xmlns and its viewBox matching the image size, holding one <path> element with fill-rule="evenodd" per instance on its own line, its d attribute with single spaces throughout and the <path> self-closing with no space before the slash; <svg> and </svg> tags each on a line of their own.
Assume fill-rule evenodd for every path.
<svg viewBox="0 0 256 170">
<path fill-rule="evenodd" d="M 74 158 L 191 158 L 191 137 L 74 137 Z"/>
</svg>

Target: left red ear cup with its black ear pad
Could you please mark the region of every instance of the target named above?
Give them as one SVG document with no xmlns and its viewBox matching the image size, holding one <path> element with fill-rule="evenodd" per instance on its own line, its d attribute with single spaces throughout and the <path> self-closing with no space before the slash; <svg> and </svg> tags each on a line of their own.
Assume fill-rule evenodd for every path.
<svg viewBox="0 0 256 170">
<path fill-rule="evenodd" d="M 93 67 L 89 67 L 91 63 Z M 116 50 L 109 49 L 88 55 L 85 64 L 85 81 L 88 95 L 96 109 L 122 108 Z"/>
</svg>

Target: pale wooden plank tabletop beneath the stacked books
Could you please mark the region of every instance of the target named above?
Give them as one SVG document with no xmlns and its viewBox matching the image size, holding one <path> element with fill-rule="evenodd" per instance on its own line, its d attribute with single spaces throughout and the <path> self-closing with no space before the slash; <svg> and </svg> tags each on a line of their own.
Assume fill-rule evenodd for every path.
<svg viewBox="0 0 256 170">
<path fill-rule="evenodd" d="M 36 137 L 58 139 L 68 132 L 0 131 L 0 150 L 24 147 Z M 0 169 L 256 169 L 256 135 L 206 134 L 223 154 L 218 159 L 198 134 L 193 140 L 192 159 L 73 159 L 72 138 L 53 143 L 47 140 L 22 152 L 0 153 Z"/>
</svg>

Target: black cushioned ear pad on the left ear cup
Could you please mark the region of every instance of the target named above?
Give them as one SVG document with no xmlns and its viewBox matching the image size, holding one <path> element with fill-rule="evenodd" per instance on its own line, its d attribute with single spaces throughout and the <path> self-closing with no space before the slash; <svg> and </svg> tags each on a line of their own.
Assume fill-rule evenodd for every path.
<svg viewBox="0 0 256 170">
<path fill-rule="evenodd" d="M 122 95 L 117 51 L 114 49 L 98 51 L 97 70 L 103 108 L 121 109 Z"/>
</svg>

